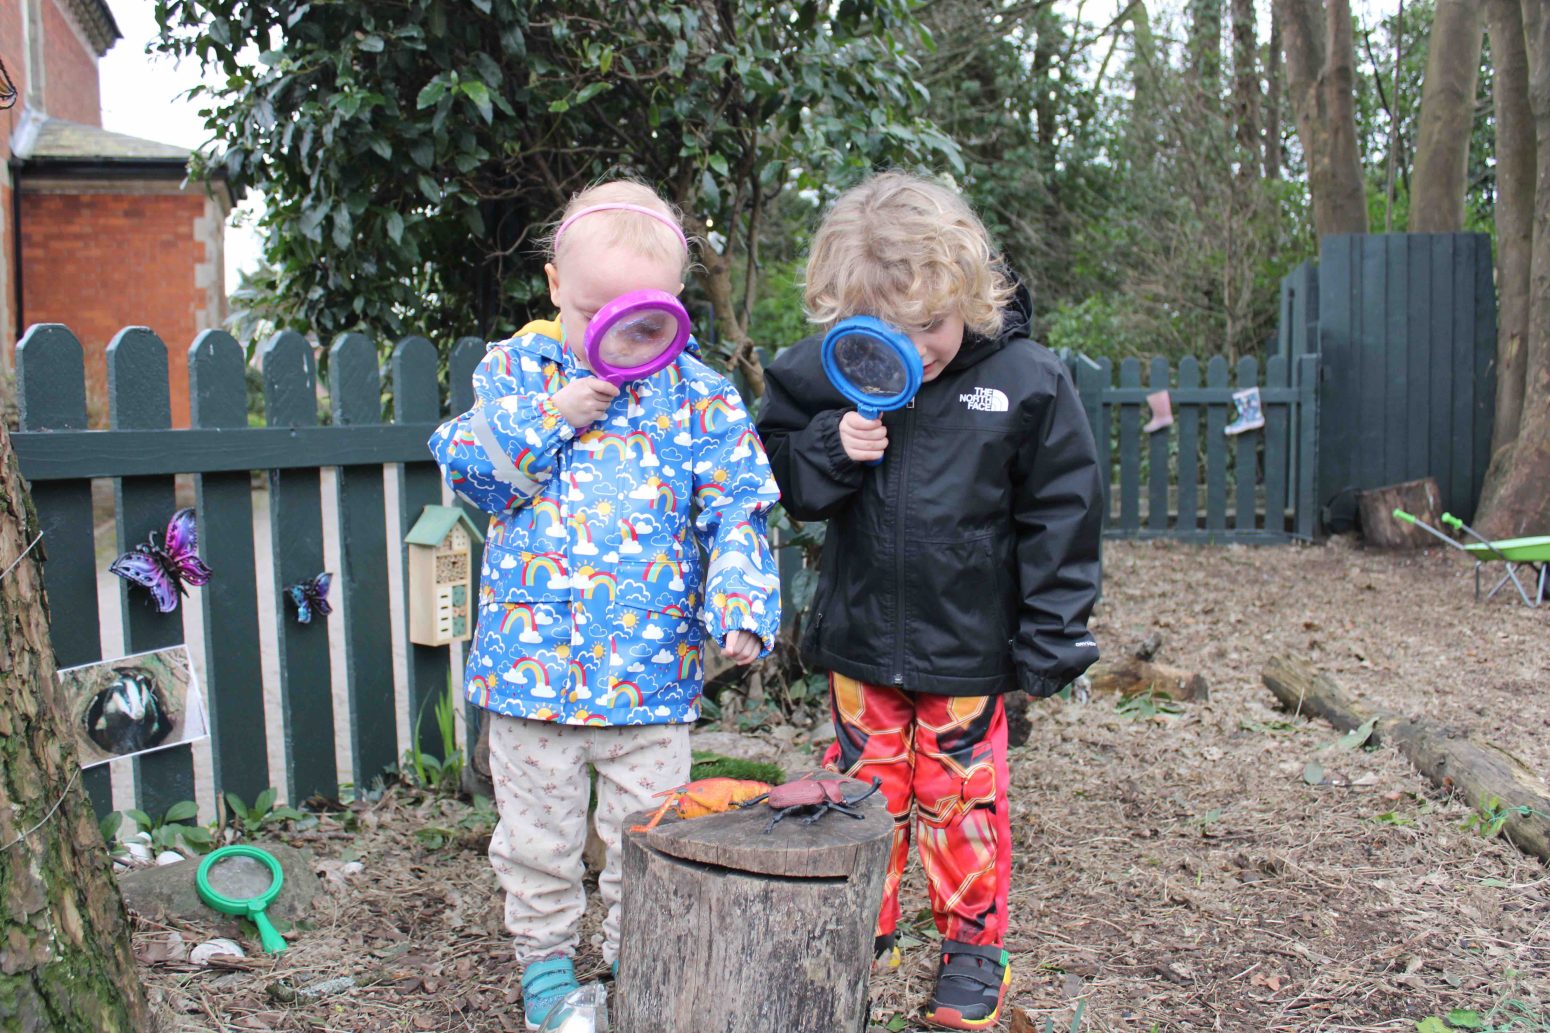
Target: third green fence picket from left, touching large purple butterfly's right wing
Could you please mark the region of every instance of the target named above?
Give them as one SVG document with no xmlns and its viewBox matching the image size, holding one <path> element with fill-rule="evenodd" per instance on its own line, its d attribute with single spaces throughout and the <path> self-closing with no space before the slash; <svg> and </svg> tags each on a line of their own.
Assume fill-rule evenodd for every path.
<svg viewBox="0 0 1550 1033">
<path fill-rule="evenodd" d="M 223 330 L 205 330 L 189 347 L 189 416 L 197 428 L 248 425 L 246 358 Z M 198 593 L 215 797 L 229 789 L 251 803 L 270 785 L 253 563 L 253 475 L 195 473 L 194 498 L 200 546 L 215 568 L 209 585 Z"/>
</svg>

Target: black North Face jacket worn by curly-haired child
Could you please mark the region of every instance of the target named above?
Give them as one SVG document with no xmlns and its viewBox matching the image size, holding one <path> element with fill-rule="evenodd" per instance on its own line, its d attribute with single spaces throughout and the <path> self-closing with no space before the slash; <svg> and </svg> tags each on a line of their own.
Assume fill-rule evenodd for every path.
<svg viewBox="0 0 1550 1033">
<path fill-rule="evenodd" d="M 1099 472 L 1065 366 L 1028 340 L 1026 290 L 997 340 L 966 335 L 908 408 L 884 416 L 882 465 L 852 462 L 852 406 L 822 337 L 766 372 L 758 430 L 781 501 L 828 520 L 803 659 L 873 684 L 1048 696 L 1097 659 Z"/>
</svg>

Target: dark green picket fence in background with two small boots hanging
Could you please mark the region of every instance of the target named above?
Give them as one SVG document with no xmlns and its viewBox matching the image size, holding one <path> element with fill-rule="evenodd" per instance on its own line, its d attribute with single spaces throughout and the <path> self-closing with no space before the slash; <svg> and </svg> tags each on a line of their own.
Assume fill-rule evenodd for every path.
<svg viewBox="0 0 1550 1033">
<path fill-rule="evenodd" d="M 1259 360 L 1246 357 L 1229 380 L 1228 360 L 1215 355 L 1201 382 L 1195 358 L 1181 360 L 1176 371 L 1153 358 L 1142 385 L 1141 360 L 1127 358 L 1116 385 L 1107 358 L 1076 357 L 1073 377 L 1107 475 L 1104 534 L 1211 543 L 1311 540 L 1318 357 L 1296 361 L 1293 369 L 1277 355 L 1260 378 Z M 1162 388 L 1172 394 L 1173 425 L 1145 434 L 1147 396 Z M 1265 427 L 1229 437 L 1224 428 L 1237 416 L 1232 392 L 1242 388 L 1260 389 Z"/>
</svg>

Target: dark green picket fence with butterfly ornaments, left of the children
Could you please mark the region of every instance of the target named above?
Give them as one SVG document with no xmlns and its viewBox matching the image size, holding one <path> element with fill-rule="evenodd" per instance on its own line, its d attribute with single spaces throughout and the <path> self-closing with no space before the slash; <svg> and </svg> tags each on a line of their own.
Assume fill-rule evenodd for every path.
<svg viewBox="0 0 1550 1033">
<path fill-rule="evenodd" d="M 456 411 L 473 402 L 470 375 L 484 351 L 477 338 L 462 338 L 453 349 Z M 394 346 L 388 363 L 392 414 L 384 419 L 375 344 L 355 333 L 339 337 L 329 349 L 329 423 L 318 419 L 316 363 L 305 338 L 287 332 L 262 346 L 265 427 L 248 425 L 245 364 L 243 349 L 228 333 L 202 333 L 189 347 L 194 427 L 172 430 L 166 346 L 144 327 L 126 329 L 107 349 L 112 430 L 87 430 L 82 349 L 74 335 L 48 324 L 22 338 L 16 364 L 22 427 L 14 444 L 43 530 L 54 650 L 60 667 L 102 659 L 93 479 L 113 484 L 116 549 L 124 551 L 164 529 L 177 509 L 174 478 L 192 475 L 200 552 L 215 571 L 206 588 L 183 602 L 200 606 L 203 616 L 215 783 L 205 788 L 253 800 L 281 783 L 279 772 L 268 769 L 264 721 L 257 614 L 268 606 L 276 611 L 284 783 L 291 800 L 332 797 L 339 768 L 336 721 L 349 726 L 353 755 L 347 769 L 356 785 L 367 785 L 408 746 L 397 737 L 388 571 L 389 552 L 403 555 L 403 537 L 422 507 L 442 501 L 442 481 L 426 450 L 443 419 L 437 352 L 420 337 Z M 324 467 L 335 468 L 333 534 L 341 563 L 333 569 L 330 602 L 341 614 L 335 627 L 346 636 L 344 713 L 333 704 L 330 622 L 302 625 L 281 599 L 284 585 L 326 569 Z M 254 565 L 254 470 L 268 479 L 273 585 L 257 583 Z M 384 473 L 395 479 L 394 513 L 386 509 Z M 157 613 L 149 596 L 127 582 L 118 591 L 126 653 L 183 642 L 181 610 Z M 408 606 L 401 610 L 406 620 Z M 440 754 L 429 701 L 446 690 L 450 648 L 408 644 L 406 630 L 405 642 L 409 726 L 423 713 L 420 746 Z M 84 777 L 98 810 L 110 810 L 108 766 Z M 135 760 L 133 782 L 138 805 L 152 814 L 198 799 L 189 746 Z"/>
</svg>

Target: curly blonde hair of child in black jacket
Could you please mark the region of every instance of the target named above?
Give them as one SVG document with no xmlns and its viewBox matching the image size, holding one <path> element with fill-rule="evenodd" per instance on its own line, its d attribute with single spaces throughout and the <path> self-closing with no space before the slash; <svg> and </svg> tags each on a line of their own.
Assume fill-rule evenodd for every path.
<svg viewBox="0 0 1550 1033">
<path fill-rule="evenodd" d="M 952 189 L 884 172 L 840 194 L 808 256 L 808 318 L 871 315 L 905 330 L 958 313 L 975 333 L 1001 332 L 1014 287 L 990 234 Z"/>
</svg>

